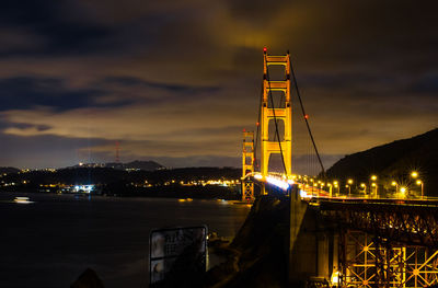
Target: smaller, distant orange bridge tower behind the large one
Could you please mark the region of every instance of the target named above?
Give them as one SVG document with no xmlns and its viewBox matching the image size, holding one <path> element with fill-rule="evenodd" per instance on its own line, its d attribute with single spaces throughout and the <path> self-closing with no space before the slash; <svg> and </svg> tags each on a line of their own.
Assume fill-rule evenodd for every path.
<svg viewBox="0 0 438 288">
<path fill-rule="evenodd" d="M 245 177 L 254 172 L 254 133 L 243 130 L 242 201 L 254 201 L 254 182 Z"/>
</svg>

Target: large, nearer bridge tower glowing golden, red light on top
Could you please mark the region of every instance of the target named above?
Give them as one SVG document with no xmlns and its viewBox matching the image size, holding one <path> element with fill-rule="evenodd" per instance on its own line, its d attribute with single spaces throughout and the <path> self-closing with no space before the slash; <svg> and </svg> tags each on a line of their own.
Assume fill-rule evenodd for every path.
<svg viewBox="0 0 438 288">
<path fill-rule="evenodd" d="M 280 66 L 284 68 L 284 79 L 270 80 L 269 67 Z M 281 69 L 281 68 L 280 68 Z M 292 108 L 290 101 L 290 60 L 289 53 L 286 56 L 267 55 L 264 48 L 263 68 L 263 100 L 261 105 L 261 172 L 267 176 L 269 158 L 272 154 L 280 154 L 287 177 L 291 176 L 291 151 L 292 151 Z M 273 92 L 280 93 L 280 103 L 274 103 Z M 276 104 L 276 106 L 274 106 Z M 269 140 L 269 122 L 274 123 L 276 138 Z M 276 127 L 284 124 L 284 135 Z"/>
</svg>

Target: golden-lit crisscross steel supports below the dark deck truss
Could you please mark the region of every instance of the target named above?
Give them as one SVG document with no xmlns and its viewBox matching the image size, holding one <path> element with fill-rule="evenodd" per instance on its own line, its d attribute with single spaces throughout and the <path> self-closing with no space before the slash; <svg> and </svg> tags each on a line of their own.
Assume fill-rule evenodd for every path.
<svg viewBox="0 0 438 288">
<path fill-rule="evenodd" d="M 438 284 L 438 250 L 344 230 L 338 252 L 341 287 L 416 288 Z"/>
</svg>

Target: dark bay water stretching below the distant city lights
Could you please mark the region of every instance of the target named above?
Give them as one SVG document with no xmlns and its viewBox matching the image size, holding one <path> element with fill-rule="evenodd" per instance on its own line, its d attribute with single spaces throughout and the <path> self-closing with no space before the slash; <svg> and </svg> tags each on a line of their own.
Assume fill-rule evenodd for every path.
<svg viewBox="0 0 438 288">
<path fill-rule="evenodd" d="M 34 203 L 13 203 L 15 196 Z M 0 193 L 0 287 L 69 287 L 87 267 L 105 287 L 147 287 L 151 229 L 207 224 L 233 237 L 249 209 L 217 200 Z"/>
</svg>

